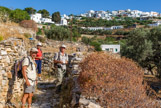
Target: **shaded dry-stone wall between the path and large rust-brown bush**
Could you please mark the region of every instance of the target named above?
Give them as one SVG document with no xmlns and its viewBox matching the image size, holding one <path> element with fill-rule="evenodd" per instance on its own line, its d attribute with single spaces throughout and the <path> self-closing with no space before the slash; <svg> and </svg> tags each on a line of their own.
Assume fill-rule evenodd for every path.
<svg viewBox="0 0 161 108">
<path fill-rule="evenodd" d="M 64 78 L 62 83 L 58 108 L 101 108 L 94 98 L 85 97 L 81 94 L 78 83 L 81 70 L 79 63 L 84 57 L 85 55 L 82 52 L 76 52 L 70 57 L 70 66 L 67 70 L 67 77 Z"/>
</svg>

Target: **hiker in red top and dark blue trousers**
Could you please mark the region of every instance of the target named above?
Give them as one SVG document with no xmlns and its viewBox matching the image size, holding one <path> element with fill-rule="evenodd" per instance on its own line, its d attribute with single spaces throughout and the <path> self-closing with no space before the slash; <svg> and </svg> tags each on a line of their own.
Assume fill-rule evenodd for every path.
<svg viewBox="0 0 161 108">
<path fill-rule="evenodd" d="M 41 64 L 42 64 L 42 56 L 43 56 L 43 53 L 42 53 L 42 50 L 41 50 L 41 46 L 42 44 L 41 43 L 38 43 L 37 44 L 37 50 L 38 50 L 38 53 L 36 55 L 36 58 L 35 58 L 35 61 L 36 61 L 36 64 L 37 64 L 37 73 L 38 73 L 38 80 L 41 81 Z"/>
</svg>

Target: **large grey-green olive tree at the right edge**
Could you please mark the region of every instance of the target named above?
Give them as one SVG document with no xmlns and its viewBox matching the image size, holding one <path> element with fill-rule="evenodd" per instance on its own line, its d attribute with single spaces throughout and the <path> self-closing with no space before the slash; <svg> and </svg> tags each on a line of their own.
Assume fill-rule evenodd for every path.
<svg viewBox="0 0 161 108">
<path fill-rule="evenodd" d="M 133 59 L 151 72 L 156 67 L 161 77 L 161 27 L 131 31 L 121 48 L 121 55 Z"/>
</svg>

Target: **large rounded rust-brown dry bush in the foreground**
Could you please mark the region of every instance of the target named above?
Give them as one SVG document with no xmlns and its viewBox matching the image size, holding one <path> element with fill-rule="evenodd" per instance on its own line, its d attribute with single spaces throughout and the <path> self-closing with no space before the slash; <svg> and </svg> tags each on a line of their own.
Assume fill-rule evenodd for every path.
<svg viewBox="0 0 161 108">
<path fill-rule="evenodd" d="M 103 108 L 154 108 L 143 85 L 143 70 L 132 60 L 92 53 L 80 64 L 82 94 Z"/>
</svg>

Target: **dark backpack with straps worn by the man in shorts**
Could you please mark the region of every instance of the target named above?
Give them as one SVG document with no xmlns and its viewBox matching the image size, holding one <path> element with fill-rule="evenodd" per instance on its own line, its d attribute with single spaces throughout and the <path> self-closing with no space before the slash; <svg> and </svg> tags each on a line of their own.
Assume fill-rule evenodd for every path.
<svg viewBox="0 0 161 108">
<path fill-rule="evenodd" d="M 29 60 L 28 66 L 31 64 L 31 68 L 33 69 L 32 62 L 31 62 L 29 57 L 23 57 L 21 60 L 16 61 L 15 62 L 15 75 L 17 76 L 17 78 L 20 78 L 20 79 L 23 78 L 23 75 L 22 75 L 22 62 L 23 62 L 23 60 L 25 58 L 28 58 L 28 60 Z"/>
</svg>

